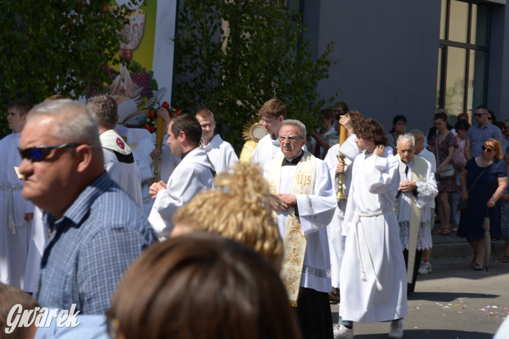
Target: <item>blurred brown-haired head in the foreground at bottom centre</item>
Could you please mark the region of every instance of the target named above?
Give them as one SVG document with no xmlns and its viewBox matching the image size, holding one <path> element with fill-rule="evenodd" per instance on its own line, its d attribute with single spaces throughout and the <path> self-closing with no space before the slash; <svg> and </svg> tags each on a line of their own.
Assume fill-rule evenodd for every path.
<svg viewBox="0 0 509 339">
<path fill-rule="evenodd" d="M 107 315 L 122 339 L 301 338 L 278 272 L 250 248 L 195 232 L 149 247 Z"/>
</svg>

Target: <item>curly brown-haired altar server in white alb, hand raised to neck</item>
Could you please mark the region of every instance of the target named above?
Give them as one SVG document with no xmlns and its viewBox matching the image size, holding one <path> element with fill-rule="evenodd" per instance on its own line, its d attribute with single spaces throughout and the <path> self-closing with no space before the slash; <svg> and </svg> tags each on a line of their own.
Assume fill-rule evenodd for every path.
<svg viewBox="0 0 509 339">
<path fill-rule="evenodd" d="M 352 168 L 343 234 L 340 316 L 372 323 L 390 320 L 390 338 L 403 337 L 408 313 L 405 260 L 394 200 L 400 185 L 399 161 L 377 121 L 355 125 L 359 154 Z M 353 336 L 353 333 L 352 333 Z"/>
</svg>

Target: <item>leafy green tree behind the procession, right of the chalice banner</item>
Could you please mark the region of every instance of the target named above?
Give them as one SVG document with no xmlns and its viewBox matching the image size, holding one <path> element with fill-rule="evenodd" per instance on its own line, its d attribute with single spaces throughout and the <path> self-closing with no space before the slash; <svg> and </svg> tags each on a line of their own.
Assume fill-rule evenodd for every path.
<svg viewBox="0 0 509 339">
<path fill-rule="evenodd" d="M 292 0 L 290 0 L 292 1 Z M 181 3 L 182 4 L 182 3 Z M 174 106 L 212 110 L 220 133 L 240 150 L 243 124 L 270 98 L 307 127 L 330 105 L 316 92 L 329 76 L 330 43 L 315 57 L 302 15 L 286 0 L 185 0 L 175 37 Z"/>
</svg>

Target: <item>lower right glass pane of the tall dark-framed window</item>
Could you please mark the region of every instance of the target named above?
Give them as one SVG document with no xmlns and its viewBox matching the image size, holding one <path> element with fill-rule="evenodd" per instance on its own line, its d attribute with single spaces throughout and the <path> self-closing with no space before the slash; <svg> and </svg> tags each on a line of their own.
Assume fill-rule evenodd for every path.
<svg viewBox="0 0 509 339">
<path fill-rule="evenodd" d="M 471 116 L 472 107 L 477 107 L 485 102 L 486 52 L 470 50 L 469 53 L 467 112 Z"/>
</svg>

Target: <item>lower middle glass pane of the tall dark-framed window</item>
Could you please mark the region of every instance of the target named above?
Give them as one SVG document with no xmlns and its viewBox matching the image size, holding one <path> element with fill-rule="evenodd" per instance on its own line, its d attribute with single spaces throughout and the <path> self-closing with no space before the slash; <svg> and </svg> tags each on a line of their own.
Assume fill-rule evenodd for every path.
<svg viewBox="0 0 509 339">
<path fill-rule="evenodd" d="M 449 47 L 447 49 L 445 108 L 449 111 L 449 115 L 457 116 L 463 112 L 466 56 L 465 48 Z"/>
</svg>

